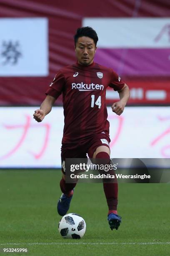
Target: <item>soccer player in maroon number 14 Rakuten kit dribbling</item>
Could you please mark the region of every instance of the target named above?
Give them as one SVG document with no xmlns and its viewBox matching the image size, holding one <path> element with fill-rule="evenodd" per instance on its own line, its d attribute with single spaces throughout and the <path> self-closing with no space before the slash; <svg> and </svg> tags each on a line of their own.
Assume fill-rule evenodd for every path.
<svg viewBox="0 0 170 256">
<path fill-rule="evenodd" d="M 70 207 L 76 183 L 65 182 L 65 159 L 89 158 L 110 161 L 109 122 L 105 103 L 106 88 L 119 93 L 120 100 L 113 103 L 112 111 L 121 115 L 130 97 L 128 85 L 111 68 L 93 61 L 98 41 L 97 33 L 90 27 L 78 28 L 74 36 L 77 62 L 60 69 L 46 91 L 46 98 L 34 118 L 41 122 L 50 113 L 52 105 L 62 93 L 65 125 L 62 138 L 61 161 L 62 195 L 57 203 L 60 215 Z M 105 183 L 103 189 L 108 205 L 107 220 L 111 230 L 119 227 L 117 215 L 117 183 Z"/>
</svg>

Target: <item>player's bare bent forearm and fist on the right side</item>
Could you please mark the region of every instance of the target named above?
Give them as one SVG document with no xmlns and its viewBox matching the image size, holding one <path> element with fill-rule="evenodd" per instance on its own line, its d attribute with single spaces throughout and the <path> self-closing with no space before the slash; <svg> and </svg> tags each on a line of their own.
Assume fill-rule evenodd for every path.
<svg viewBox="0 0 170 256">
<path fill-rule="evenodd" d="M 117 92 L 119 93 L 120 100 L 113 103 L 112 111 L 115 112 L 117 115 L 121 115 L 123 113 L 126 103 L 129 100 L 130 90 L 128 85 L 125 84 L 124 87 Z"/>
</svg>

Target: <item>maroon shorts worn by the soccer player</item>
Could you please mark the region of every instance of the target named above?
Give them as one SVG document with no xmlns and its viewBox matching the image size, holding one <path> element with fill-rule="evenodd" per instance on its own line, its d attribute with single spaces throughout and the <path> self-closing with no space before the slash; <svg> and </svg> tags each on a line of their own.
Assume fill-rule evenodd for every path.
<svg viewBox="0 0 170 256">
<path fill-rule="evenodd" d="M 66 158 L 92 158 L 96 148 L 99 146 L 109 147 L 110 138 L 106 133 L 95 134 L 91 138 L 78 143 L 64 143 L 61 147 L 61 164 L 62 173 L 65 174 L 65 159 Z"/>
</svg>

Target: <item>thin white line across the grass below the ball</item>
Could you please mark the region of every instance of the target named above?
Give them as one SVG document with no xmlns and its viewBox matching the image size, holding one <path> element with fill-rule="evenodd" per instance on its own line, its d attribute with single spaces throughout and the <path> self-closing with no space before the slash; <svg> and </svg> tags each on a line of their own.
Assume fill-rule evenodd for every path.
<svg viewBox="0 0 170 256">
<path fill-rule="evenodd" d="M 90 242 L 68 242 L 68 243 L 62 243 L 62 242 L 54 242 L 54 243 L 0 243 L 1 246 L 6 246 L 6 245 L 27 245 L 27 246 L 33 246 L 33 245 L 156 245 L 156 244 L 170 244 L 170 242 L 130 242 L 130 243 L 90 243 Z"/>
</svg>

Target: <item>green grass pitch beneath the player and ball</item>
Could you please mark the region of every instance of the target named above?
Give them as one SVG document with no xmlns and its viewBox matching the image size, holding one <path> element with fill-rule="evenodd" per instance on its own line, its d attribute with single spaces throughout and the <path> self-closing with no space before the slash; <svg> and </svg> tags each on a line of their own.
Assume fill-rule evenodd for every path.
<svg viewBox="0 0 170 256">
<path fill-rule="evenodd" d="M 81 215 L 87 230 L 68 240 L 57 229 L 60 177 L 54 169 L 0 171 L 0 255 L 2 248 L 28 248 L 35 256 L 170 255 L 169 184 L 119 184 L 122 224 L 113 231 L 102 184 L 77 184 L 69 212 Z"/>
</svg>

